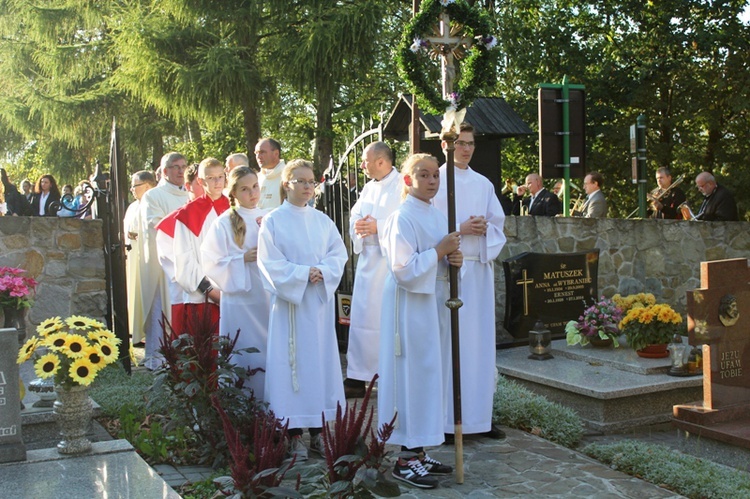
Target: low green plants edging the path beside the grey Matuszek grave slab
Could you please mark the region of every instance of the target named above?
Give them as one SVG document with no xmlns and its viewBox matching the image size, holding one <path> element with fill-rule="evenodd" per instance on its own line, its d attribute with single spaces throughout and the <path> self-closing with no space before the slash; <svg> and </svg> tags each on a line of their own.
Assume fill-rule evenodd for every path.
<svg viewBox="0 0 750 499">
<path fill-rule="evenodd" d="M 583 436 L 583 423 L 575 411 L 503 376 L 497 383 L 493 420 L 569 448 L 575 447 Z"/>
</svg>

